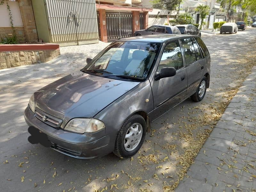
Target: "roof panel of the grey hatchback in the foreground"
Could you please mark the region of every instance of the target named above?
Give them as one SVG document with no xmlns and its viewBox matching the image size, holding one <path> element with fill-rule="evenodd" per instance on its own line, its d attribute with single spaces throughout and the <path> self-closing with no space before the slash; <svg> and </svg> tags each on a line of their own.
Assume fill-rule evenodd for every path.
<svg viewBox="0 0 256 192">
<path fill-rule="evenodd" d="M 160 34 L 160 35 L 145 35 L 145 36 L 134 36 L 122 39 L 117 39 L 116 41 L 131 41 L 131 42 L 147 42 L 147 43 L 163 43 L 168 40 L 178 39 L 181 37 L 193 37 L 195 35 L 183 35 L 183 34 Z"/>
</svg>

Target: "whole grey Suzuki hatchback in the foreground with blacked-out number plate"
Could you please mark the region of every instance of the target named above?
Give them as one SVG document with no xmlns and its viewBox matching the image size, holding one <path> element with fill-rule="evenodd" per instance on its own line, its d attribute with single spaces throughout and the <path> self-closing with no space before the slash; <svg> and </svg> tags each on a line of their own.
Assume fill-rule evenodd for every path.
<svg viewBox="0 0 256 192">
<path fill-rule="evenodd" d="M 119 39 L 81 71 L 46 85 L 24 116 L 32 144 L 80 159 L 131 157 L 150 123 L 191 97 L 204 98 L 211 57 L 192 35 Z"/>
</svg>

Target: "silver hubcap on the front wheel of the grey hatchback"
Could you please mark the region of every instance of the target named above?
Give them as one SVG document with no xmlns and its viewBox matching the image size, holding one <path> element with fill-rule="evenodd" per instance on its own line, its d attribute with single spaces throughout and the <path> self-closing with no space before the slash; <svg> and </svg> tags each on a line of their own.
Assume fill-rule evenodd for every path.
<svg viewBox="0 0 256 192">
<path fill-rule="evenodd" d="M 127 130 L 124 136 L 124 149 L 126 151 L 134 150 L 139 144 L 142 138 L 142 125 L 134 123 Z"/>
</svg>

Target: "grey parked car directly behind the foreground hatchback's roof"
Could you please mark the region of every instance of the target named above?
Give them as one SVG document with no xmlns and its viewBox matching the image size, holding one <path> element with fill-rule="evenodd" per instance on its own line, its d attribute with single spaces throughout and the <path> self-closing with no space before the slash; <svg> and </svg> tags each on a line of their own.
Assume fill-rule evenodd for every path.
<svg viewBox="0 0 256 192">
<path fill-rule="evenodd" d="M 134 32 L 134 36 L 141 36 L 141 35 L 155 35 L 155 34 L 180 34 L 180 30 L 174 26 L 168 25 L 153 25 L 144 30 L 138 30 Z"/>
</svg>

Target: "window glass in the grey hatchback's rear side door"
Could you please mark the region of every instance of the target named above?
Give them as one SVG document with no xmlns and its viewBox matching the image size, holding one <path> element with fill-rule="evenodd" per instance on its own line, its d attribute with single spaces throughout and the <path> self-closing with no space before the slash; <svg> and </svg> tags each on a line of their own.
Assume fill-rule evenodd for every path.
<svg viewBox="0 0 256 192">
<path fill-rule="evenodd" d="M 189 65 L 196 61 L 195 48 L 193 46 L 192 40 L 190 38 L 180 39 L 184 53 L 186 64 Z"/>
</svg>

